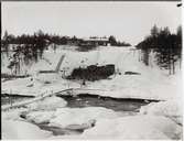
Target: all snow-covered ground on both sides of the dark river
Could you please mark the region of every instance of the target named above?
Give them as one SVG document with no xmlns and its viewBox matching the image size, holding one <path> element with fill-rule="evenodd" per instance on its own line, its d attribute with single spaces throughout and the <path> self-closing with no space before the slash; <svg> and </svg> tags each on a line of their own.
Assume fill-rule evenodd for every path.
<svg viewBox="0 0 184 141">
<path fill-rule="evenodd" d="M 182 75 L 166 75 L 154 63 L 145 66 L 139 62 L 139 51 L 130 47 L 99 47 L 90 52 L 59 50 L 46 51 L 44 58 L 33 64 L 29 73 L 31 78 L 19 78 L 1 84 L 2 91 L 19 95 L 40 96 L 67 88 L 80 88 L 80 82 L 66 80 L 63 74 L 36 75 L 37 70 L 55 69 L 59 57 L 66 54 L 61 69 L 69 75 L 75 67 L 88 65 L 115 64 L 117 74 L 109 79 L 87 82 L 77 94 L 95 94 L 116 98 L 156 99 L 141 107 L 133 115 L 123 115 L 102 107 L 68 108 L 67 102 L 57 97 L 47 97 L 24 108 L 2 111 L 2 139 L 182 139 Z M 141 75 L 125 75 L 137 72 Z M 118 73 L 121 73 L 118 74 Z M 44 84 L 43 82 L 51 82 Z M 32 87 L 30 87 L 32 85 Z M 47 93 L 46 93 L 47 91 Z M 25 113 L 25 119 L 20 118 Z M 53 135 L 41 130 L 35 123 L 45 123 L 58 128 L 84 128 L 82 134 Z"/>
</svg>

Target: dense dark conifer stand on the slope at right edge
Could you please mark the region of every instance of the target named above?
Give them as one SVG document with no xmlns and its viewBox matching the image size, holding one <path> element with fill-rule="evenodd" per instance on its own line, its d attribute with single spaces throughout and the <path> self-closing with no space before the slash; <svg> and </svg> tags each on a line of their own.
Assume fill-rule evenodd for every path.
<svg viewBox="0 0 184 141">
<path fill-rule="evenodd" d="M 167 26 L 158 28 L 155 24 L 151 29 L 150 35 L 136 45 L 143 53 L 143 63 L 149 64 L 149 55 L 155 53 L 156 64 L 161 68 L 169 69 L 169 74 L 175 74 L 175 64 L 182 61 L 182 26 L 176 33 L 171 33 Z"/>
</svg>

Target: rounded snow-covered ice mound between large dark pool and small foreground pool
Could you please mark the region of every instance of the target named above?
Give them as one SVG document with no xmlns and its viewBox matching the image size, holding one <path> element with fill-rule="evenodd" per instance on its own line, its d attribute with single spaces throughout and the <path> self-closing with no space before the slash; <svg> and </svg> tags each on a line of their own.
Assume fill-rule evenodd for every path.
<svg viewBox="0 0 184 141">
<path fill-rule="evenodd" d="M 50 124 L 67 127 L 69 124 L 95 123 L 98 119 L 113 119 L 117 117 L 117 113 L 111 109 L 102 107 L 87 107 L 61 108 L 56 110 L 54 116 L 55 118 L 51 119 Z"/>
</svg>

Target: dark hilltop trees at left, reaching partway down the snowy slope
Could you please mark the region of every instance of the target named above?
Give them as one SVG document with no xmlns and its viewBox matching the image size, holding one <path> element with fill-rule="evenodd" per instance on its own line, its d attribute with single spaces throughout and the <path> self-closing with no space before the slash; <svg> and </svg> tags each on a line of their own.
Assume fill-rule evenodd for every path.
<svg viewBox="0 0 184 141">
<path fill-rule="evenodd" d="M 91 39 L 98 39 L 98 36 L 90 36 Z M 105 37 L 105 36 L 104 36 Z M 101 37 L 102 39 L 102 37 Z M 106 37 L 107 39 L 107 37 Z M 17 69 L 20 69 L 20 61 L 23 58 L 25 65 L 31 64 L 33 61 L 37 62 L 39 58 L 42 58 L 43 52 L 51 45 L 53 50 L 56 50 L 56 45 L 78 45 L 78 43 L 83 42 L 83 39 L 78 39 L 74 36 L 61 36 L 53 35 L 48 33 L 44 33 L 42 30 L 39 30 L 32 35 L 22 34 L 22 35 L 13 35 L 9 34 L 8 31 L 4 32 L 3 37 L 1 39 L 1 52 L 6 52 L 7 56 L 10 52 L 10 44 L 15 44 L 15 48 L 13 50 L 13 55 L 10 56 L 9 68 L 11 70 L 15 69 L 15 74 L 19 74 Z M 130 46 L 129 43 L 119 42 L 116 40 L 113 35 L 108 37 L 108 43 L 111 46 Z M 59 47 L 59 46 L 58 46 Z"/>
</svg>

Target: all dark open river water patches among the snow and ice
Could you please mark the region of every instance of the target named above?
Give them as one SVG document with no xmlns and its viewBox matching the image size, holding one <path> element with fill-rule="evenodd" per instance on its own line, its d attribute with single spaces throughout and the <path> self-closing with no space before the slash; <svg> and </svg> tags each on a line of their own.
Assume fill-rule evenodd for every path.
<svg viewBox="0 0 184 141">
<path fill-rule="evenodd" d="M 89 95 L 89 94 L 80 94 L 77 96 L 64 96 L 57 95 L 67 101 L 67 107 L 71 108 L 84 108 L 84 107 L 105 107 L 108 109 L 112 109 L 115 111 L 121 112 L 130 112 L 132 116 L 137 113 L 141 106 L 148 105 L 149 102 L 144 101 L 143 99 L 122 99 L 122 98 L 110 98 L 110 97 L 100 97 L 98 95 Z M 33 98 L 31 96 L 1 96 L 1 105 L 21 101 L 25 99 Z M 26 113 L 21 113 L 21 118 L 26 119 Z M 69 119 L 68 119 L 69 120 Z M 74 124 L 73 129 L 67 128 L 58 128 L 58 127 L 51 127 L 48 122 L 45 123 L 35 123 L 34 121 L 29 121 L 33 124 L 36 124 L 40 129 L 51 131 L 53 135 L 64 135 L 64 134 L 80 134 L 86 129 L 83 129 L 82 124 Z M 77 128 L 76 128 L 77 127 Z"/>
</svg>

